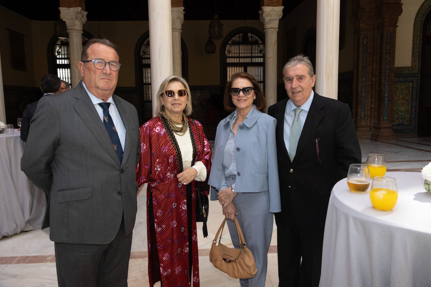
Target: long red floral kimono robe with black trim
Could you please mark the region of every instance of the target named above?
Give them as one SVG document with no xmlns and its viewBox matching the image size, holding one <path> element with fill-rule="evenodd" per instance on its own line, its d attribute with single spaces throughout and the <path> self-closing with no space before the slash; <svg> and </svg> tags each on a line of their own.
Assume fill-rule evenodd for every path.
<svg viewBox="0 0 431 287">
<path fill-rule="evenodd" d="M 211 147 L 203 133 L 202 125 L 197 120 L 188 119 L 188 122 L 194 148 L 194 162 L 201 161 L 205 165 L 208 178 L 211 169 Z M 187 135 L 188 133 L 185 134 Z M 136 180 L 139 186 L 148 183 L 147 238 L 150 286 L 160 280 L 163 287 L 191 286 L 191 281 L 194 287 L 200 286 L 196 182 L 192 181 L 191 196 L 188 195 L 191 199 L 189 207 L 191 213 L 190 210 L 188 213 L 191 214 L 191 218 L 188 218 L 186 185 L 182 185 L 177 179 L 182 159 L 175 136 L 165 128 L 160 117 L 154 117 L 142 125 L 141 141 L 141 160 L 136 169 Z M 190 190 L 190 186 L 188 188 Z M 208 191 L 205 195 L 208 195 Z M 191 256 L 189 242 L 192 242 Z M 193 270 L 192 275 L 190 266 Z"/>
</svg>

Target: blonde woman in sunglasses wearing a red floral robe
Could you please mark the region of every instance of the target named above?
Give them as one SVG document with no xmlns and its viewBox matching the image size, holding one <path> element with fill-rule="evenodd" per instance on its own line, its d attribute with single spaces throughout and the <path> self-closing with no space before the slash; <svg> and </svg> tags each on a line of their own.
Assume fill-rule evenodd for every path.
<svg viewBox="0 0 431 287">
<path fill-rule="evenodd" d="M 191 114 L 191 96 L 181 77 L 160 85 L 156 117 L 141 127 L 139 186 L 147 187 L 150 286 L 200 286 L 196 232 L 196 181 L 211 169 L 211 147 Z M 203 194 L 208 195 L 208 191 Z"/>
</svg>

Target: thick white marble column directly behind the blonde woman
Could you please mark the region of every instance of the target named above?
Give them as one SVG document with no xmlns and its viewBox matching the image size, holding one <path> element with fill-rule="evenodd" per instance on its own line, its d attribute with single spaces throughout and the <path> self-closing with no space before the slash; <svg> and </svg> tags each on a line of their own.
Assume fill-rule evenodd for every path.
<svg viewBox="0 0 431 287">
<path fill-rule="evenodd" d="M 172 21 L 170 0 L 149 0 L 148 20 L 150 25 L 151 51 L 151 101 L 153 116 L 157 106 L 157 90 L 168 76 L 172 75 Z"/>
</svg>

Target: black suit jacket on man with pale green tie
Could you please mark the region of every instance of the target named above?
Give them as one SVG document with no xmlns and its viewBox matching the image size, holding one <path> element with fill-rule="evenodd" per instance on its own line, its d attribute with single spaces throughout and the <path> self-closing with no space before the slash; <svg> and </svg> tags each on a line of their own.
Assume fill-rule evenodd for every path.
<svg viewBox="0 0 431 287">
<path fill-rule="evenodd" d="M 314 93 L 293 162 L 283 138 L 287 99 L 272 105 L 277 119 L 276 142 L 281 213 L 293 216 L 303 231 L 323 230 L 334 184 L 347 177 L 350 164 L 361 163 L 361 149 L 349 106 Z"/>
</svg>

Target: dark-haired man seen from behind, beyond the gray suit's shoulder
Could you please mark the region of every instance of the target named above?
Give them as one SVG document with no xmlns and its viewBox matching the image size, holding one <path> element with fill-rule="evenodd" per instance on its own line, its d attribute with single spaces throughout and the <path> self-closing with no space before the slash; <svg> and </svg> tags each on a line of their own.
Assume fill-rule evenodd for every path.
<svg viewBox="0 0 431 287">
<path fill-rule="evenodd" d="M 43 75 L 40 80 L 41 91 L 45 95 L 56 94 L 61 92 L 61 79 L 53 74 Z M 21 139 L 26 142 L 28 138 L 28 132 L 30 131 L 30 121 L 33 118 L 34 111 L 36 111 L 37 103 L 32 102 L 25 107 L 22 113 L 21 121 Z"/>
</svg>

